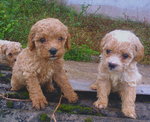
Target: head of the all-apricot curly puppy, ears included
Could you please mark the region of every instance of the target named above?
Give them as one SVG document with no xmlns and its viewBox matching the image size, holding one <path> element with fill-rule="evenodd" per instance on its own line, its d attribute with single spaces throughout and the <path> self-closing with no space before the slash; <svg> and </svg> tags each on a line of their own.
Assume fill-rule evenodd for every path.
<svg viewBox="0 0 150 122">
<path fill-rule="evenodd" d="M 64 55 L 65 48 L 69 48 L 68 29 L 57 19 L 40 20 L 31 28 L 28 46 L 39 57 L 59 59 Z"/>
</svg>

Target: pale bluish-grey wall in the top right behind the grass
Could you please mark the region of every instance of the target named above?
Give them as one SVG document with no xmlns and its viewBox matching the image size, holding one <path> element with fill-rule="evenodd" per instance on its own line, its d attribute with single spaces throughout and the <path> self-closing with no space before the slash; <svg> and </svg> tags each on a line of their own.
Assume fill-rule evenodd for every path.
<svg viewBox="0 0 150 122">
<path fill-rule="evenodd" d="M 112 18 L 124 18 L 150 23 L 150 0 L 58 0 L 81 11 L 89 5 L 87 13 L 96 13 Z"/>
</svg>

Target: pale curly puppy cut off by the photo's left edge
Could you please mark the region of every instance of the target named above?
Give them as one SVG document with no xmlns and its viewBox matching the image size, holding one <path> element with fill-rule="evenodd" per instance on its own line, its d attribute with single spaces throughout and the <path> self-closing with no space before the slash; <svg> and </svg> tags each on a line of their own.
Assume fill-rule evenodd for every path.
<svg viewBox="0 0 150 122">
<path fill-rule="evenodd" d="M 19 42 L 0 40 L 0 63 L 12 67 L 21 50 Z"/>
</svg>

